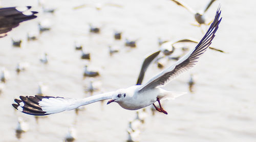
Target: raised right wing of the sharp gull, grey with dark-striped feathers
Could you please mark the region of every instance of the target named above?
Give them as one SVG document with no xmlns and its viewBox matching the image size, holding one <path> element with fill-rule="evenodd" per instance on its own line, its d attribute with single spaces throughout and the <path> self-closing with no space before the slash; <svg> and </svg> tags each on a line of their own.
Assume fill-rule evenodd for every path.
<svg viewBox="0 0 256 142">
<path fill-rule="evenodd" d="M 218 30 L 219 23 L 222 18 L 220 18 L 221 10 L 217 10 L 214 21 L 211 23 L 208 31 L 197 44 L 196 48 L 188 52 L 183 58 L 178 60 L 174 65 L 164 69 L 161 73 L 153 77 L 146 84 L 138 88 L 138 91 L 144 91 L 148 89 L 155 88 L 157 86 L 163 86 L 167 82 L 172 81 L 178 75 L 185 72 L 189 68 L 193 67 L 197 59 L 206 51 L 208 46 L 211 44 L 211 40 L 214 39 L 215 33 Z M 220 19 L 219 19 L 220 18 Z"/>
</svg>

